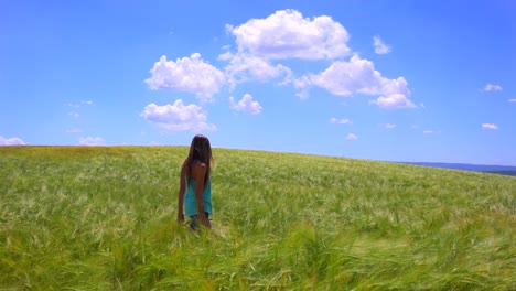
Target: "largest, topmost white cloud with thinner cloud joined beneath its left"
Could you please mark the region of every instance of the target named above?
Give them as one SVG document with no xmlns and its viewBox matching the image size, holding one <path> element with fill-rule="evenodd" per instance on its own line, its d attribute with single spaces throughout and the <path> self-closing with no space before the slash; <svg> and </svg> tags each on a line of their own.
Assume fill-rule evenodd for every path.
<svg viewBox="0 0 516 291">
<path fill-rule="evenodd" d="M 237 52 L 226 52 L 219 60 L 225 67 L 230 89 L 250 80 L 268 82 L 282 77 L 281 85 L 292 80 L 292 71 L 276 60 L 322 60 L 342 57 L 350 53 L 347 31 L 330 17 L 313 20 L 294 10 L 282 10 L 266 19 L 251 19 L 227 31 L 236 37 Z"/>
</svg>

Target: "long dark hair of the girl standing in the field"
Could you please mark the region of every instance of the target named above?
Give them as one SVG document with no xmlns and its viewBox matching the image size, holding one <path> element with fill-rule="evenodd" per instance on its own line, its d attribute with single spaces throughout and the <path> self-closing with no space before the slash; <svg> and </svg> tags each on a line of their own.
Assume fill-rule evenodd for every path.
<svg viewBox="0 0 516 291">
<path fill-rule="evenodd" d="M 213 163 L 212 157 L 212 146 L 209 144 L 209 140 L 203 136 L 197 134 L 192 139 L 192 144 L 190 146 L 189 157 L 184 160 L 183 168 L 186 174 L 186 185 L 190 185 L 190 181 L 192 179 L 192 164 L 195 161 L 203 162 L 206 164 L 206 175 L 204 176 L 204 187 L 206 187 L 207 182 L 209 181 L 211 175 L 211 164 Z"/>
</svg>

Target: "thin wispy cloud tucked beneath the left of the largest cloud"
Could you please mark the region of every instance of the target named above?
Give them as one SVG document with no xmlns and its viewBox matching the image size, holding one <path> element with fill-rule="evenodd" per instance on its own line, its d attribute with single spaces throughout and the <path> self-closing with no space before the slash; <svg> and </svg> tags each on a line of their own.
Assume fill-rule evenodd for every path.
<svg viewBox="0 0 516 291">
<path fill-rule="evenodd" d="M 267 82 L 280 76 L 286 76 L 284 83 L 288 83 L 292 75 L 290 68 L 281 64 L 273 66 L 268 61 L 249 54 L 234 55 L 227 52 L 219 55 L 218 60 L 229 61 L 225 71 L 232 90 L 239 83 L 249 80 Z"/>
</svg>

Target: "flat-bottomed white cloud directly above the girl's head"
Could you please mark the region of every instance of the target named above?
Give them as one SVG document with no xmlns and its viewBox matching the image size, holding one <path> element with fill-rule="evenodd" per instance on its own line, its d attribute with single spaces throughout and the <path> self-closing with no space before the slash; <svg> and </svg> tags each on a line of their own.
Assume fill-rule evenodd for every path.
<svg viewBox="0 0 516 291">
<path fill-rule="evenodd" d="M 173 105 L 150 104 L 146 106 L 141 116 L 149 123 L 166 130 L 216 130 L 214 125 L 206 123 L 207 114 L 202 107 L 194 104 L 185 106 L 181 99 L 175 100 Z"/>
</svg>

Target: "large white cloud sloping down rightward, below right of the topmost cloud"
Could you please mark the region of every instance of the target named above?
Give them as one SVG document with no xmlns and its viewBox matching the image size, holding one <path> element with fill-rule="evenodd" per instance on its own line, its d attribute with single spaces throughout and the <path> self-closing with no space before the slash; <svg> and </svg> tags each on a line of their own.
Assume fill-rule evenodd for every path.
<svg viewBox="0 0 516 291">
<path fill-rule="evenodd" d="M 407 80 L 404 77 L 389 79 L 375 69 L 373 62 L 354 55 L 350 62 L 336 61 L 327 69 L 310 75 L 309 80 L 294 80 L 294 86 L 305 89 L 309 85 L 316 85 L 337 96 L 353 94 L 381 95 L 372 101 L 383 108 L 413 108 L 417 107 L 408 96 Z"/>
</svg>

